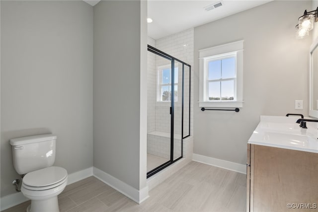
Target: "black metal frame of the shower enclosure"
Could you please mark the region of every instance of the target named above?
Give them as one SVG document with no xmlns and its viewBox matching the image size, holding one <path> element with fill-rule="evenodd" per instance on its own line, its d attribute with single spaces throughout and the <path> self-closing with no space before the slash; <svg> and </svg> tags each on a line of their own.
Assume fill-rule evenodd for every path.
<svg viewBox="0 0 318 212">
<path fill-rule="evenodd" d="M 159 165 L 158 167 L 156 167 L 155 169 L 147 172 L 147 178 L 153 176 L 154 174 L 158 173 L 159 171 L 161 171 L 162 169 L 166 168 L 167 166 L 173 164 L 174 162 L 180 160 L 183 157 L 183 139 L 187 138 L 190 136 L 190 99 L 191 99 L 191 95 L 190 95 L 190 91 L 191 91 L 191 66 L 175 57 L 172 57 L 171 55 L 168 55 L 162 51 L 160 51 L 159 49 L 148 45 L 148 51 L 159 55 L 167 60 L 171 61 L 171 106 L 170 106 L 170 160 Z M 175 62 L 179 62 L 182 64 L 182 98 L 181 98 L 181 156 L 176 158 L 175 160 L 173 160 L 173 141 L 174 141 L 174 86 L 172 86 L 172 82 L 174 82 L 174 63 Z M 183 136 L 183 107 L 184 107 L 184 66 L 188 66 L 189 67 L 189 131 L 188 133 Z"/>
</svg>

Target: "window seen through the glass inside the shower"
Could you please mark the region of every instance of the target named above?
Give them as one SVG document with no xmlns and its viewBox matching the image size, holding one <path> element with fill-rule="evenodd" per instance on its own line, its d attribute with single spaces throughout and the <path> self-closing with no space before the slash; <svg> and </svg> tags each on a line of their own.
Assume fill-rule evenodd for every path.
<svg viewBox="0 0 318 212">
<path fill-rule="evenodd" d="M 178 101 L 178 67 L 174 67 L 174 102 Z M 171 101 L 171 65 L 158 68 L 158 102 Z"/>
</svg>

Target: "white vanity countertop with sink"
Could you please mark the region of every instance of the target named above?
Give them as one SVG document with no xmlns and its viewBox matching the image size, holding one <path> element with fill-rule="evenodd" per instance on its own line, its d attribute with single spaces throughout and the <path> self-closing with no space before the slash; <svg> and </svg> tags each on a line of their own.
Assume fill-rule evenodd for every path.
<svg viewBox="0 0 318 212">
<path fill-rule="evenodd" d="M 296 123 L 299 116 L 261 115 L 248 143 L 318 153 L 318 122 L 307 123 L 307 129 Z"/>
</svg>

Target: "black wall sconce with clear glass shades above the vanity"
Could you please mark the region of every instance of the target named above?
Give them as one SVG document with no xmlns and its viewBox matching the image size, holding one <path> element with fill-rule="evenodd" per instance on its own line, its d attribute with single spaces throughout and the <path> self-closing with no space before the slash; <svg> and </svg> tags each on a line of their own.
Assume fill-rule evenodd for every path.
<svg viewBox="0 0 318 212">
<path fill-rule="evenodd" d="M 296 38 L 301 39 L 309 34 L 309 31 L 314 28 L 314 22 L 318 21 L 318 7 L 316 10 L 307 12 L 305 9 L 304 15 L 298 18 L 296 28 Z"/>
</svg>

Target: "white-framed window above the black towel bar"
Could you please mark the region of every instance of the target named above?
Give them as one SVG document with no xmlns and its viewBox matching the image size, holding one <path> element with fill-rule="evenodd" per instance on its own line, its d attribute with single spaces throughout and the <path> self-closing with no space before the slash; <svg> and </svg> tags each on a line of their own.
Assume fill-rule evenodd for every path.
<svg viewBox="0 0 318 212">
<path fill-rule="evenodd" d="M 242 107 L 243 41 L 199 51 L 200 107 Z"/>
</svg>

